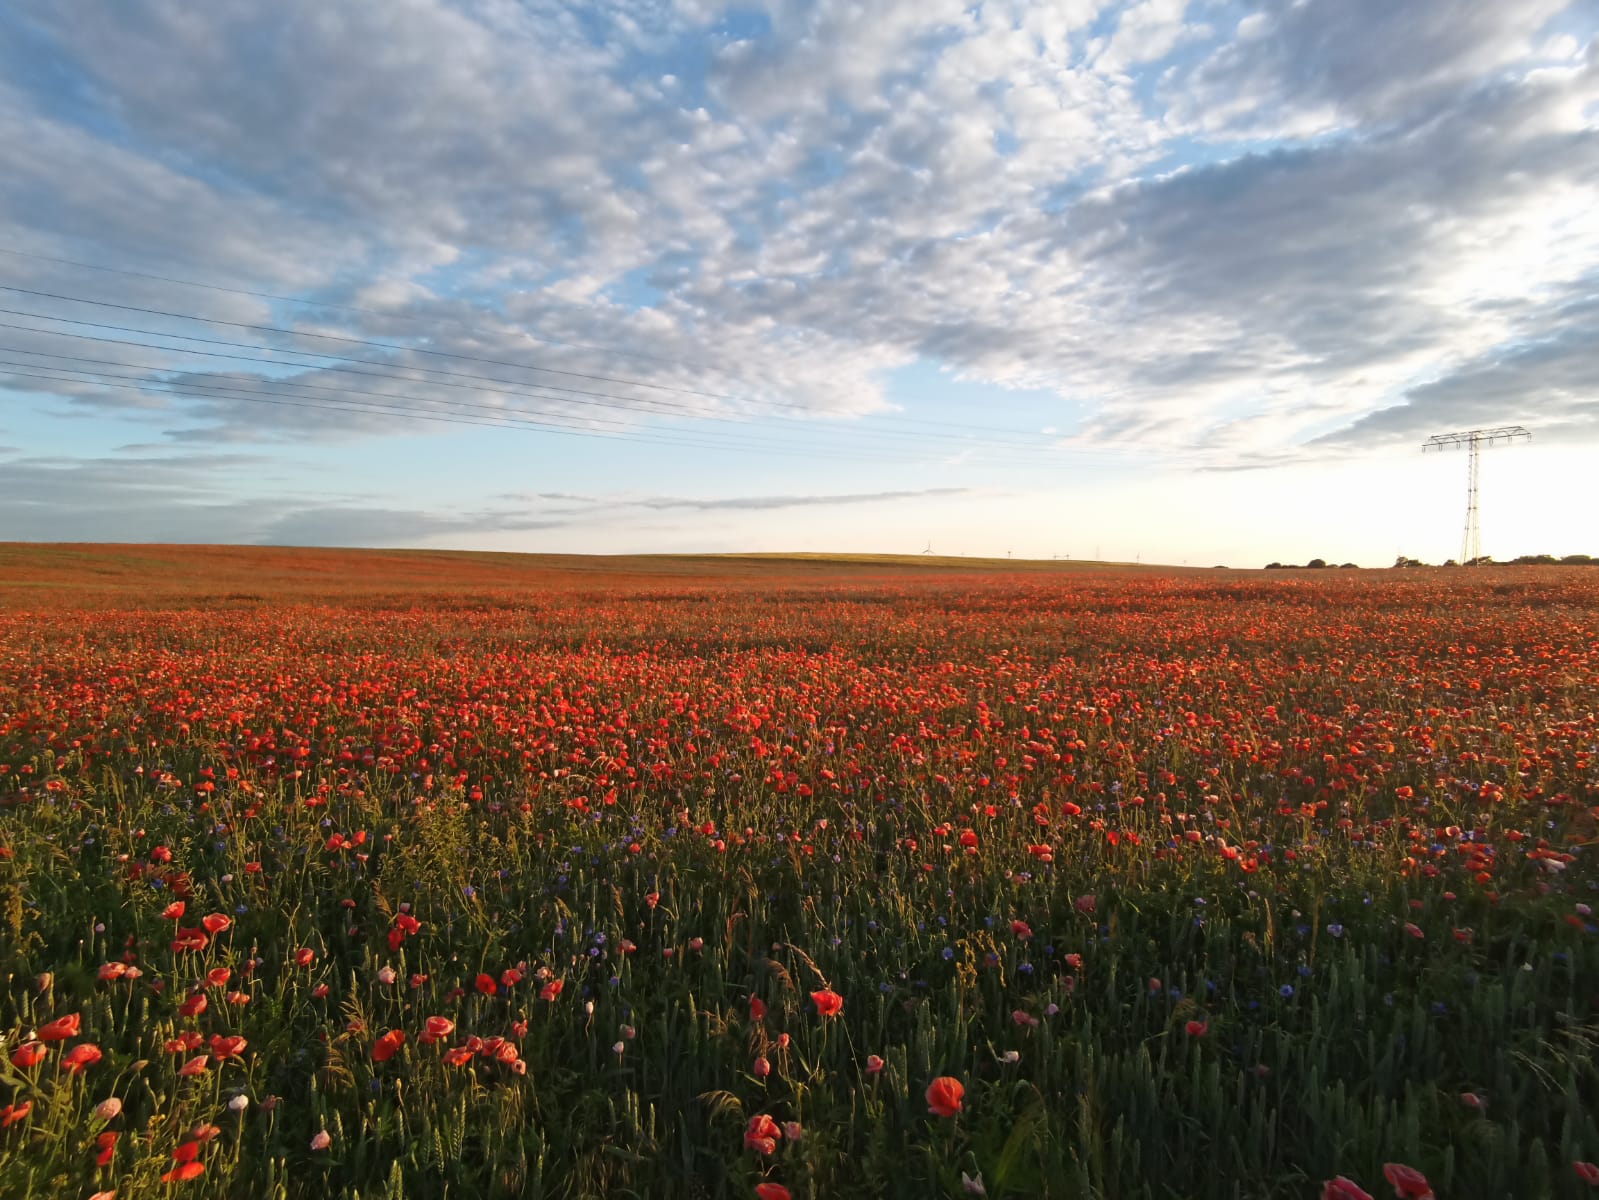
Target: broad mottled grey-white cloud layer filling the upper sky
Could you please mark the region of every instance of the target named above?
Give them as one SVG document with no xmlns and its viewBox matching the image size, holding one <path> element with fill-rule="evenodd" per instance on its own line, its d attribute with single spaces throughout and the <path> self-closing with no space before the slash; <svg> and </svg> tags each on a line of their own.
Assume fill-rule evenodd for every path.
<svg viewBox="0 0 1599 1200">
<path fill-rule="evenodd" d="M 42 314 L 0 315 L 35 326 L 0 358 L 70 379 L 0 373 L 141 440 L 433 429 L 393 405 L 836 426 L 916 360 L 1059 394 L 1076 448 L 1265 461 L 1509 410 L 1594 435 L 1588 326 L 1551 299 L 1599 266 L 1583 3 L 285 0 L 264 24 L 246 0 L 21 0 L 0 30 L 21 248 L 93 237 L 361 309 L 0 256 L 16 286 L 214 318 L 0 293 Z"/>
</svg>

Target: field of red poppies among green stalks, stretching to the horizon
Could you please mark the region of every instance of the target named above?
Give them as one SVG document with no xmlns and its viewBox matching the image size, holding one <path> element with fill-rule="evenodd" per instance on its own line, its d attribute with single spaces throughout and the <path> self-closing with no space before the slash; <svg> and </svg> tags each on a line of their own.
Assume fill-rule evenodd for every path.
<svg viewBox="0 0 1599 1200">
<path fill-rule="evenodd" d="M 1599 1197 L 1589 573 L 246 566 L 0 600 L 3 1197 Z"/>
</svg>

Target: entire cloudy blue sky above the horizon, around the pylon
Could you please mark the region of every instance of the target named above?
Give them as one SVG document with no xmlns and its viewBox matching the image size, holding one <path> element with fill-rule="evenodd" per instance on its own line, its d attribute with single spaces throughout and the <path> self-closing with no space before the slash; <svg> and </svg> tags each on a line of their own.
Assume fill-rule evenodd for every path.
<svg viewBox="0 0 1599 1200">
<path fill-rule="evenodd" d="M 1599 554 L 1599 0 L 10 0 L 0 541 Z"/>
</svg>

